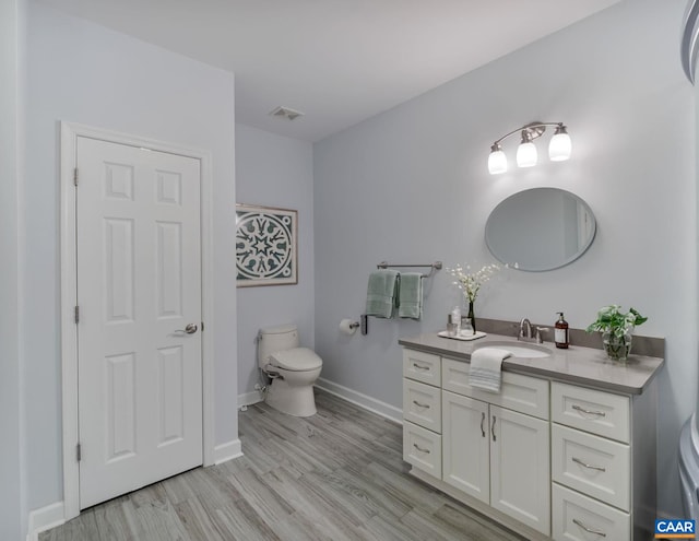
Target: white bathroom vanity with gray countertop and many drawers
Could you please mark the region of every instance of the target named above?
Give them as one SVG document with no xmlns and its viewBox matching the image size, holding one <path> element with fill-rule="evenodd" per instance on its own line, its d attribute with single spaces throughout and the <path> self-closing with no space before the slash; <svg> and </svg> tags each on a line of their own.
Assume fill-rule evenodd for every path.
<svg viewBox="0 0 699 541">
<path fill-rule="evenodd" d="M 469 385 L 469 363 L 496 340 L 518 344 L 399 340 L 411 473 L 529 539 L 651 539 L 663 358 L 619 365 L 602 350 L 546 343 L 549 356 L 506 358 L 493 393 Z"/>
</svg>

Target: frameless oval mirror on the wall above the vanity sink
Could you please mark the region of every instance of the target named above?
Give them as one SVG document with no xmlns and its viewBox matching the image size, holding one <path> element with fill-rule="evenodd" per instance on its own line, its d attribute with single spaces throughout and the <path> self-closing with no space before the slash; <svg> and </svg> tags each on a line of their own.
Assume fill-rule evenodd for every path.
<svg viewBox="0 0 699 541">
<path fill-rule="evenodd" d="M 595 231 L 594 214 L 578 196 L 558 188 L 533 188 L 493 209 L 485 224 L 485 243 L 503 263 L 546 271 L 582 256 Z"/>
</svg>

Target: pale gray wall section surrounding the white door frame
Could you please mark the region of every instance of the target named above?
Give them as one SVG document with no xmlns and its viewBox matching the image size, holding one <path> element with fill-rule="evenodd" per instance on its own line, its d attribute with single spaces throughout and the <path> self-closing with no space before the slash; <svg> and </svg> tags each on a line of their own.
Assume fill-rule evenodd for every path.
<svg viewBox="0 0 699 541">
<path fill-rule="evenodd" d="M 62 499 L 59 120 L 213 154 L 215 443 L 236 440 L 234 78 L 33 2 L 22 346 L 29 509 Z"/>
</svg>

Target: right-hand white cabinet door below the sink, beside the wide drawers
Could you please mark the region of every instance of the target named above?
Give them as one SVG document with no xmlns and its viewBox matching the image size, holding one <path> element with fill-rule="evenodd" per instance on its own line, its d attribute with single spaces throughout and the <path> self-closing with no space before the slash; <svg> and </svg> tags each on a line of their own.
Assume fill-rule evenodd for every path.
<svg viewBox="0 0 699 541">
<path fill-rule="evenodd" d="M 550 447 L 546 421 L 490 405 L 490 505 L 550 534 Z"/>
</svg>

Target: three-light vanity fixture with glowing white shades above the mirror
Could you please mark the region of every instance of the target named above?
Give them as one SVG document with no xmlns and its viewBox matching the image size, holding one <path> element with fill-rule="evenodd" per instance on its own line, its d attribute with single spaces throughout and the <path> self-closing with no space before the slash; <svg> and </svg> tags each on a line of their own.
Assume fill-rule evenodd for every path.
<svg viewBox="0 0 699 541">
<path fill-rule="evenodd" d="M 522 141 L 517 149 L 517 165 L 519 167 L 532 167 L 536 165 L 536 145 L 533 143 L 546 131 L 546 126 L 555 126 L 554 137 L 550 138 L 548 144 L 548 158 L 552 162 L 562 162 L 570 157 L 572 144 L 568 129 L 562 122 L 531 122 L 516 130 L 506 133 L 490 146 L 490 155 L 488 156 L 488 170 L 490 175 L 498 175 L 507 170 L 507 157 L 502 152 L 500 142 L 514 133 L 520 132 Z"/>
</svg>

